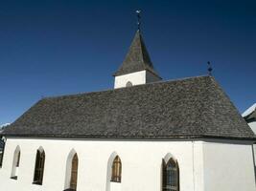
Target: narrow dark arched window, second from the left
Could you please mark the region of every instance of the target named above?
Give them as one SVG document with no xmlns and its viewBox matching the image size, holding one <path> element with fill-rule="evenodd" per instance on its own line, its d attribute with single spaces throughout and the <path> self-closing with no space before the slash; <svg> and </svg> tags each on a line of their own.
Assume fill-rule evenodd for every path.
<svg viewBox="0 0 256 191">
<path fill-rule="evenodd" d="M 43 149 L 37 149 L 35 158 L 35 173 L 33 183 L 42 184 L 45 153 Z"/>
</svg>

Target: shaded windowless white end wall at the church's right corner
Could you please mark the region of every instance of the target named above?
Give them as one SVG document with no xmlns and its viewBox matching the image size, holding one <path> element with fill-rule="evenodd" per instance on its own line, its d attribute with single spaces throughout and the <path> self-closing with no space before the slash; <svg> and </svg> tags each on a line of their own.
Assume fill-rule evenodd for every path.
<svg viewBox="0 0 256 191">
<path fill-rule="evenodd" d="M 204 190 L 255 191 L 252 145 L 203 143 Z"/>
</svg>

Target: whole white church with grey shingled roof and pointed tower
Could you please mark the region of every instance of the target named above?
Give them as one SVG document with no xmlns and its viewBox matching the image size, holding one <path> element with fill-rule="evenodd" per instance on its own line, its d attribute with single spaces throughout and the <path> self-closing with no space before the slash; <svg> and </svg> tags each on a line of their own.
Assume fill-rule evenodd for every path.
<svg viewBox="0 0 256 191">
<path fill-rule="evenodd" d="M 256 137 L 214 77 L 163 81 L 138 31 L 114 80 L 8 126 L 0 190 L 256 190 Z"/>
</svg>

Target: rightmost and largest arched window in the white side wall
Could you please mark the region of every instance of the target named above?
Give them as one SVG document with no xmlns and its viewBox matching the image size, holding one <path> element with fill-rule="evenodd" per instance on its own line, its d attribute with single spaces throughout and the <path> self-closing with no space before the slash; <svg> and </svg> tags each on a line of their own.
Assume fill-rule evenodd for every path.
<svg viewBox="0 0 256 191">
<path fill-rule="evenodd" d="M 162 162 L 163 191 L 179 191 L 179 170 L 175 159 Z"/>
</svg>

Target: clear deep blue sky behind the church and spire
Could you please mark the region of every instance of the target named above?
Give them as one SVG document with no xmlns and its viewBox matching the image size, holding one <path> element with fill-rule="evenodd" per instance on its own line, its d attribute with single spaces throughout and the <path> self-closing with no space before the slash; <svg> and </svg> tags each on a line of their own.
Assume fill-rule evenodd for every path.
<svg viewBox="0 0 256 191">
<path fill-rule="evenodd" d="M 165 79 L 214 76 L 240 112 L 256 102 L 256 1 L 1 1 L 0 124 L 42 96 L 113 88 L 136 31 Z"/>
</svg>

